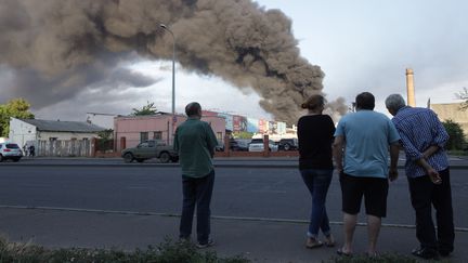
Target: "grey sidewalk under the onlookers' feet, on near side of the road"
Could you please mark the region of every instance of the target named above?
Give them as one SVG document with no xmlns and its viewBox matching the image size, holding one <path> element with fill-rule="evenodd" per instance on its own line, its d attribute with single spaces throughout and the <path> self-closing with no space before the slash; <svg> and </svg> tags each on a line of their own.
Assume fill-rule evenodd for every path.
<svg viewBox="0 0 468 263">
<path fill-rule="evenodd" d="M 93 211 L 0 208 L 0 233 L 10 241 L 31 241 L 46 247 L 145 249 L 166 237 L 177 239 L 178 216 L 139 215 Z M 342 244 L 342 226 L 332 225 L 336 248 L 306 249 L 306 224 L 213 219 L 212 250 L 219 255 L 242 254 L 253 262 L 321 262 L 336 257 Z M 194 227 L 195 229 L 195 227 Z M 358 226 L 355 252 L 364 252 L 366 228 Z M 379 238 L 381 252 L 408 254 L 417 246 L 415 229 L 385 226 Z M 468 233 L 457 232 L 451 262 L 468 260 Z"/>
</svg>

